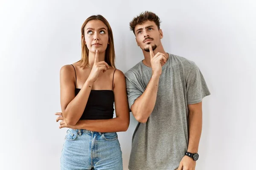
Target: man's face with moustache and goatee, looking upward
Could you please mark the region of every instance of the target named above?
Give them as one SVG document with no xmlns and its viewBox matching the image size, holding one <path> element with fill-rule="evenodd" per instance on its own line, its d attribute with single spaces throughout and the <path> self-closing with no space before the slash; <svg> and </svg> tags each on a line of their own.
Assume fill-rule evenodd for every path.
<svg viewBox="0 0 256 170">
<path fill-rule="evenodd" d="M 150 45 L 154 51 L 160 45 L 160 39 L 163 38 L 162 30 L 158 30 L 154 21 L 146 21 L 142 25 L 137 25 L 134 31 L 138 46 L 147 52 L 149 52 Z"/>
</svg>

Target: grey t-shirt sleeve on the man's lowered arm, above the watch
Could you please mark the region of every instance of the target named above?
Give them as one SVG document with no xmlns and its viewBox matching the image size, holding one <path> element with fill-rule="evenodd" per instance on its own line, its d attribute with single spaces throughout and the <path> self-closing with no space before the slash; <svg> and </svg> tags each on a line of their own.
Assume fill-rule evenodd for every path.
<svg viewBox="0 0 256 170">
<path fill-rule="evenodd" d="M 193 65 L 186 82 L 186 95 L 188 105 L 202 101 L 205 96 L 210 95 L 204 76 L 197 65 Z"/>
</svg>

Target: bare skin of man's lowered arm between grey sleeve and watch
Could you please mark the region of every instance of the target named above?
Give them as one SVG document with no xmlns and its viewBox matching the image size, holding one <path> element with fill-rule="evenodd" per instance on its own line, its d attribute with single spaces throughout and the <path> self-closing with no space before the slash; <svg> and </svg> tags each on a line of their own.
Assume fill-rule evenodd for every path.
<svg viewBox="0 0 256 170">
<path fill-rule="evenodd" d="M 189 146 L 188 152 L 198 153 L 202 132 L 202 102 L 188 105 L 189 107 Z"/>
</svg>

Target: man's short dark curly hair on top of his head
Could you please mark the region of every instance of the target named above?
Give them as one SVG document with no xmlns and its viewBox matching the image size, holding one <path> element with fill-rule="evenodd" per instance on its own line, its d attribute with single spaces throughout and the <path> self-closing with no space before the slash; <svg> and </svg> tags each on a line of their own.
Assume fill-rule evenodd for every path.
<svg viewBox="0 0 256 170">
<path fill-rule="evenodd" d="M 146 21 L 154 21 L 154 23 L 157 25 L 157 28 L 160 29 L 160 18 L 153 12 L 145 11 L 140 13 L 140 15 L 137 15 L 137 17 L 134 17 L 134 19 L 130 22 L 131 31 L 134 32 L 135 26 L 141 25 Z"/>
</svg>

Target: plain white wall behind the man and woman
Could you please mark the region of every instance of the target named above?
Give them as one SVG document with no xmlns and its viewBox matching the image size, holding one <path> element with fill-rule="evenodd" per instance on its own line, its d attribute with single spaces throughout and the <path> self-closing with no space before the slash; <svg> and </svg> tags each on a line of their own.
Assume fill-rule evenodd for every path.
<svg viewBox="0 0 256 170">
<path fill-rule="evenodd" d="M 108 2 L 108 3 L 107 3 Z M 116 65 L 143 59 L 129 22 L 142 11 L 162 20 L 167 52 L 197 63 L 204 99 L 197 170 L 247 170 L 256 160 L 256 3 L 253 0 L 1 0 L 0 169 L 56 170 L 67 129 L 58 129 L 59 70 L 80 58 L 80 28 L 92 14 L 111 24 Z M 131 136 L 119 133 L 127 170 Z"/>
</svg>

